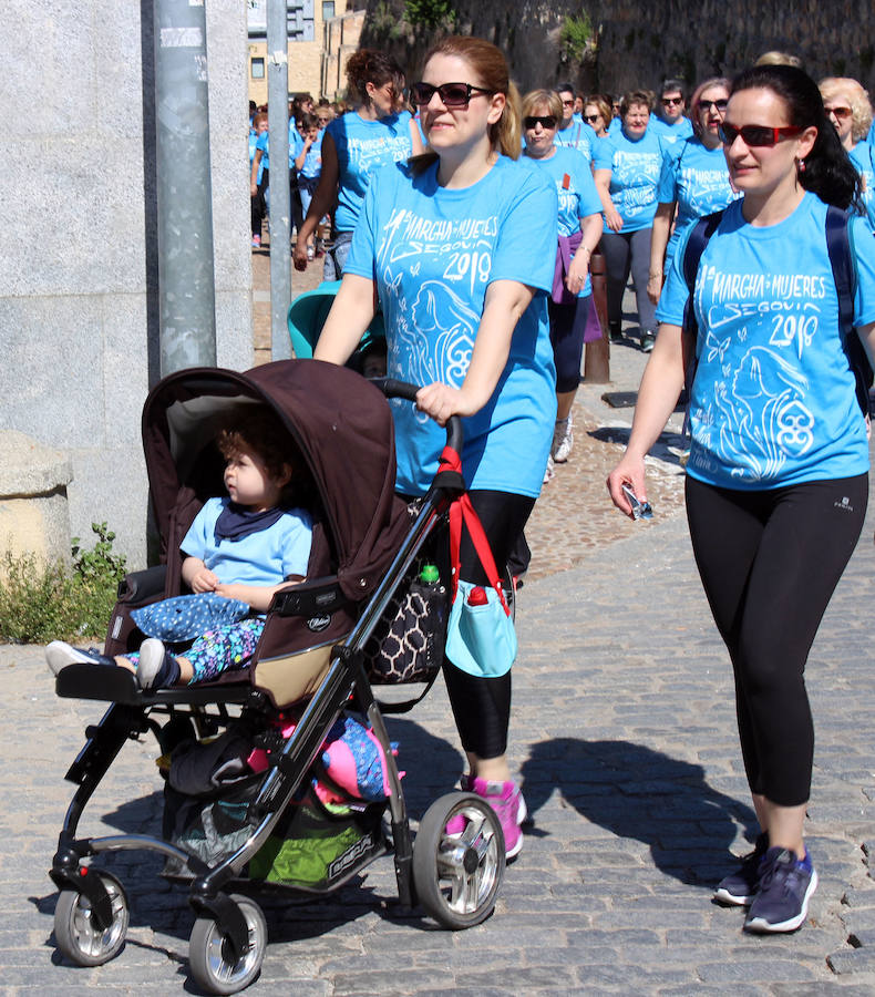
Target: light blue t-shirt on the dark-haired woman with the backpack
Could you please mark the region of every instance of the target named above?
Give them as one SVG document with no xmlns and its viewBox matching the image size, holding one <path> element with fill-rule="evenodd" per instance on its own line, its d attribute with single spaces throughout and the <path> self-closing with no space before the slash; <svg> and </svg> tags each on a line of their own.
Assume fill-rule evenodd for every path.
<svg viewBox="0 0 875 997">
<path fill-rule="evenodd" d="M 806 193 L 789 218 L 760 227 L 744 222 L 743 204 L 727 208 L 696 279 L 687 473 L 750 490 L 865 474 L 866 426 L 841 341 L 826 205 Z M 863 218 L 851 224 L 862 326 L 875 321 L 875 239 Z M 683 320 L 688 238 L 659 299 L 661 322 Z"/>
</svg>

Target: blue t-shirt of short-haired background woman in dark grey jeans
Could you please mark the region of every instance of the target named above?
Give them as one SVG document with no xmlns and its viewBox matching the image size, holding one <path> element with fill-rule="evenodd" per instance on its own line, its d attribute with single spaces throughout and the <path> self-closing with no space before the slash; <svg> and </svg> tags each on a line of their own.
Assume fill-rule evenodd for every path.
<svg viewBox="0 0 875 997">
<path fill-rule="evenodd" d="M 632 142 L 622 130 L 599 138 L 593 168 L 610 169 L 610 199 L 624 232 L 650 228 L 656 215 L 656 185 L 662 167 L 662 143 L 651 129 Z"/>
</svg>

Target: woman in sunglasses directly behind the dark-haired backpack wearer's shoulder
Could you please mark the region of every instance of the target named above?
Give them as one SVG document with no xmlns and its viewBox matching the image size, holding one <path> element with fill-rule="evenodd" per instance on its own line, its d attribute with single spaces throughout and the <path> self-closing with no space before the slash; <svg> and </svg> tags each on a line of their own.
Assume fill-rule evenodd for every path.
<svg viewBox="0 0 875 997">
<path fill-rule="evenodd" d="M 729 182 L 719 134 L 729 103 L 729 80 L 713 76 L 696 88 L 691 101 L 696 134 L 666 151 L 657 184 L 658 204 L 650 238 L 647 294 L 653 305 L 659 301 L 663 275 L 671 266 L 683 233 L 697 218 L 721 210 L 739 196 Z"/>
</svg>

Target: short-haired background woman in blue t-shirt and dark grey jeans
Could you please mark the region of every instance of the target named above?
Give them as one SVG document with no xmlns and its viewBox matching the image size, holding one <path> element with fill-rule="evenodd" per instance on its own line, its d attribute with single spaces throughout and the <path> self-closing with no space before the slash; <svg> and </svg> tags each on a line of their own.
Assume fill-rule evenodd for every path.
<svg viewBox="0 0 875 997">
<path fill-rule="evenodd" d="M 621 338 L 622 294 L 629 273 L 638 306 L 641 349 L 649 352 L 656 336 L 653 302 L 647 296 L 650 232 L 656 214 L 656 185 L 662 166 L 662 143 L 650 122 L 650 94 L 632 90 L 620 101 L 621 127 L 596 142 L 593 169 L 605 214 L 601 253 L 608 288 L 610 338 Z"/>
</svg>

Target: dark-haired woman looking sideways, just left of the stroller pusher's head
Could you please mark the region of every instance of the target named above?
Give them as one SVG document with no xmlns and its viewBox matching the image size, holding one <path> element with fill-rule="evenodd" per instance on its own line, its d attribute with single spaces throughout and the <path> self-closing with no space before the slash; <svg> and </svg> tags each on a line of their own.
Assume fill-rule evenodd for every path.
<svg viewBox="0 0 875 997">
<path fill-rule="evenodd" d="M 371 173 L 422 152 L 416 123 L 398 111 L 404 74 L 390 55 L 369 49 L 350 55 L 347 84 L 354 111 L 336 117 L 322 133 L 322 165 L 307 217 L 298 232 L 292 259 L 307 269 L 307 247 L 321 218 L 334 208 L 332 247 L 326 253 L 325 279 L 340 280 Z"/>
</svg>

